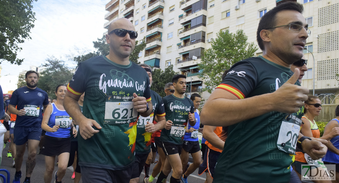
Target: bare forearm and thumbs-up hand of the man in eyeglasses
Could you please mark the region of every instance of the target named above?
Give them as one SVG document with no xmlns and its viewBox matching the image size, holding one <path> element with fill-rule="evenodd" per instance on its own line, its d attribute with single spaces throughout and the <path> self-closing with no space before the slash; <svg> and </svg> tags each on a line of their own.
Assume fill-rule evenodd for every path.
<svg viewBox="0 0 339 183">
<path fill-rule="evenodd" d="M 229 126 L 271 111 L 298 112 L 308 94 L 307 88 L 295 85 L 299 74 L 296 69 L 293 76 L 273 93 L 240 100 L 230 91 L 217 88 L 202 108 L 200 120 L 206 125 Z M 225 117 L 225 114 L 232 115 Z"/>
</svg>

